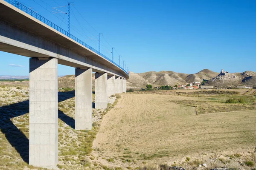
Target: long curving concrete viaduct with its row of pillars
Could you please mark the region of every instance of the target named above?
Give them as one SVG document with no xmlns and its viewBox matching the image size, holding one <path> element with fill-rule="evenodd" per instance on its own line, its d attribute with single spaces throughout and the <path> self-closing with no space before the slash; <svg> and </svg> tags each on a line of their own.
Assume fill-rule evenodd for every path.
<svg viewBox="0 0 256 170">
<path fill-rule="evenodd" d="M 8 1 L 8 0 L 6 0 Z M 92 73 L 95 108 L 107 108 L 108 96 L 126 93 L 128 73 L 98 51 L 61 33 L 27 8 L 0 0 L 0 51 L 29 59 L 29 164 L 58 163 L 58 64 L 76 69 L 76 130 L 92 128 Z M 11 0 L 13 1 L 13 0 Z M 15 1 L 16 3 L 16 1 Z M 46 24 L 47 23 L 47 24 Z M 53 27 L 53 28 L 52 28 Z M 57 30 L 58 31 L 57 31 Z M 71 38 L 70 38 L 71 37 Z"/>
</svg>

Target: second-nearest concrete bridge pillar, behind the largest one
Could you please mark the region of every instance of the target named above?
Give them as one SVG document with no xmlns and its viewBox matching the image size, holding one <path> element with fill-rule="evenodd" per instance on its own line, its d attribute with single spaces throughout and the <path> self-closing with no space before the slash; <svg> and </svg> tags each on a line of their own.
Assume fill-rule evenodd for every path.
<svg viewBox="0 0 256 170">
<path fill-rule="evenodd" d="M 76 130 L 91 130 L 93 126 L 92 72 L 92 68 L 76 68 Z"/>
</svg>

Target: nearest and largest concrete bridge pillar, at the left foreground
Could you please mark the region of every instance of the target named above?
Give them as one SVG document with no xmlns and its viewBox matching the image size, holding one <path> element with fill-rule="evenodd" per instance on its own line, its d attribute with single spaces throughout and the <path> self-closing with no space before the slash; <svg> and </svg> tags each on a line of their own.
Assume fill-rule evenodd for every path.
<svg viewBox="0 0 256 170">
<path fill-rule="evenodd" d="M 29 164 L 58 164 L 58 59 L 29 59 Z"/>
</svg>

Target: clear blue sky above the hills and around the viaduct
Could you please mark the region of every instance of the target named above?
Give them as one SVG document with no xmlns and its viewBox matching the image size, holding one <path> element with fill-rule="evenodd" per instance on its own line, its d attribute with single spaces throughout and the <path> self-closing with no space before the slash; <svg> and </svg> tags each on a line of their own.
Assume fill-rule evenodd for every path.
<svg viewBox="0 0 256 170">
<path fill-rule="evenodd" d="M 20 2 L 67 30 L 67 15 L 52 14 L 52 7 L 65 6 L 67 0 Z M 103 33 L 101 52 L 111 58 L 115 47 L 115 62 L 122 55 L 129 71 L 256 71 L 255 0 L 72 2 L 71 34 L 98 49 L 98 34 Z M 0 75 L 29 75 L 28 57 L 1 51 L 0 56 Z M 58 75 L 74 73 L 74 68 L 58 65 Z"/>
</svg>

